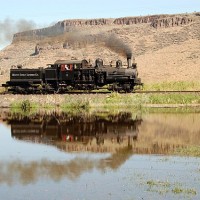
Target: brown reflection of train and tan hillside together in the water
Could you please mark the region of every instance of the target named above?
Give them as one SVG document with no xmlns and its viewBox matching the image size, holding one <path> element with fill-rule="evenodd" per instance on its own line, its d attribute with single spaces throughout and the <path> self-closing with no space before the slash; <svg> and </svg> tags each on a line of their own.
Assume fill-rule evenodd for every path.
<svg viewBox="0 0 200 200">
<path fill-rule="evenodd" d="M 177 148 L 199 145 L 197 113 L 133 115 L 51 113 L 27 118 L 4 114 L 1 118 L 11 124 L 12 137 L 51 144 L 66 152 L 119 153 L 128 147 L 132 154 L 172 154 Z"/>
</svg>

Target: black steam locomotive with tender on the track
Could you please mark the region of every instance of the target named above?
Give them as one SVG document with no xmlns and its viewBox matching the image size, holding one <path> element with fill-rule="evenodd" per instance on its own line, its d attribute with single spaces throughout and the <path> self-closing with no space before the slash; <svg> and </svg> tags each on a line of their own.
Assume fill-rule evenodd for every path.
<svg viewBox="0 0 200 200">
<path fill-rule="evenodd" d="M 74 90 L 92 91 L 106 87 L 110 91 L 134 91 L 142 85 L 136 63 L 127 57 L 127 65 L 117 60 L 115 66 L 104 65 L 98 58 L 92 65 L 87 60 L 57 60 L 46 68 L 10 70 L 10 80 L 2 86 L 16 94 L 67 93 Z"/>
</svg>

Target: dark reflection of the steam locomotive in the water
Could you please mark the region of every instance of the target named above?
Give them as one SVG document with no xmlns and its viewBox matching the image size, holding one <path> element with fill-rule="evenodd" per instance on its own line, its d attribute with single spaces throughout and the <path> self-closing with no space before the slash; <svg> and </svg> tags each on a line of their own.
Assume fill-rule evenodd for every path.
<svg viewBox="0 0 200 200">
<path fill-rule="evenodd" d="M 15 139 L 52 144 L 64 151 L 113 152 L 137 140 L 142 119 L 120 112 L 13 118 L 9 123 Z"/>
</svg>

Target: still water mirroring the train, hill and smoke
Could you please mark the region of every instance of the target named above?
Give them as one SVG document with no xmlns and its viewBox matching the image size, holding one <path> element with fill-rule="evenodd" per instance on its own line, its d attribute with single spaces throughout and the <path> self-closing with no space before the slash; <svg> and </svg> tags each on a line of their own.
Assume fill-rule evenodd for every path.
<svg viewBox="0 0 200 200">
<path fill-rule="evenodd" d="M 200 114 L 1 113 L 1 199 L 200 199 Z"/>
</svg>

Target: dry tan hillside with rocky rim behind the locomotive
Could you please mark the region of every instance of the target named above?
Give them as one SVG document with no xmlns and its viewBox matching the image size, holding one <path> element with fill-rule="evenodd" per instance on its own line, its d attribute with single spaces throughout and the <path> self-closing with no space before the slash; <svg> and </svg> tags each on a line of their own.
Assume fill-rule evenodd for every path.
<svg viewBox="0 0 200 200">
<path fill-rule="evenodd" d="M 1 82 L 8 79 L 10 67 L 18 64 L 45 67 L 72 57 L 126 63 L 119 50 L 121 43 L 106 44 L 113 37 L 130 47 L 144 83 L 199 81 L 200 13 L 191 13 L 63 20 L 44 29 L 16 33 L 12 43 L 0 51 Z"/>
</svg>

